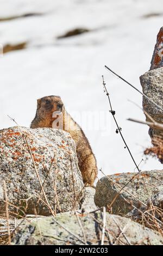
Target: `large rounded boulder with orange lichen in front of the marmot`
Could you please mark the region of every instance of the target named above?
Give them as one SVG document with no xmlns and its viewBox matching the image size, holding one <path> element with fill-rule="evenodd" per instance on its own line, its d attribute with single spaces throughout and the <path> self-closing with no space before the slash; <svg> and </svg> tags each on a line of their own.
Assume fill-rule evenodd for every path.
<svg viewBox="0 0 163 256">
<path fill-rule="evenodd" d="M 0 211 L 5 209 L 3 180 L 9 203 L 20 206 L 17 213 L 49 215 L 28 144 L 51 208 L 70 211 L 84 184 L 78 168 L 76 144 L 69 133 L 49 128 L 11 127 L 0 131 Z M 56 154 L 56 155 L 55 155 Z M 54 157 L 55 156 L 55 157 Z M 57 176 L 56 176 L 57 175 Z M 55 178 L 57 196 L 55 197 Z M 73 182 L 74 181 L 74 182 Z M 79 199 L 83 197 L 80 193 Z M 57 201 L 57 203 L 56 203 Z M 59 203 L 58 203 L 59 201 Z M 77 202 L 76 208 L 79 209 Z M 11 205 L 10 213 L 15 211 Z"/>
</svg>

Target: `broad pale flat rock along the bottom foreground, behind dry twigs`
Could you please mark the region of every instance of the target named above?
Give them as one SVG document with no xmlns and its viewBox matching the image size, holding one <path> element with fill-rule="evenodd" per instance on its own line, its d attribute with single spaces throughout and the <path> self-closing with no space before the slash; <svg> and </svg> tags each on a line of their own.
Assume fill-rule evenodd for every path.
<svg viewBox="0 0 163 256">
<path fill-rule="evenodd" d="M 101 245 L 102 214 L 78 214 L 84 235 L 76 215 L 57 214 L 53 217 L 39 217 L 18 231 L 12 245 Z M 93 219 L 93 218 L 94 219 Z M 97 221 L 96 221 L 96 220 Z M 66 228 L 66 229 L 65 229 Z M 162 245 L 163 237 L 151 229 L 126 217 L 106 213 L 104 244 L 114 245 Z M 121 232 L 123 230 L 123 234 Z M 75 236 L 74 236 L 75 235 Z"/>
</svg>

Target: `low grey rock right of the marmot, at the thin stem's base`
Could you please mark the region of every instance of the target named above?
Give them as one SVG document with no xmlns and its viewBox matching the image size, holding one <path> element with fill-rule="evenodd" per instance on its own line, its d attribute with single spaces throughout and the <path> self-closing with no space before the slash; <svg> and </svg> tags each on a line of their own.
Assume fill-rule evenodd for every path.
<svg viewBox="0 0 163 256">
<path fill-rule="evenodd" d="M 146 203 L 149 195 L 151 196 L 152 194 L 163 191 L 162 170 L 151 170 L 136 174 L 137 173 L 120 173 L 101 178 L 96 185 L 95 204 L 98 207 L 109 206 L 115 196 L 120 192 L 121 188 L 126 185 L 131 178 L 133 178 L 133 180 L 120 192 L 120 195 L 117 197 L 114 204 L 112 204 L 114 214 L 127 214 L 127 212 L 131 210 L 130 203 L 134 206 L 139 205 L 139 200 Z"/>
</svg>

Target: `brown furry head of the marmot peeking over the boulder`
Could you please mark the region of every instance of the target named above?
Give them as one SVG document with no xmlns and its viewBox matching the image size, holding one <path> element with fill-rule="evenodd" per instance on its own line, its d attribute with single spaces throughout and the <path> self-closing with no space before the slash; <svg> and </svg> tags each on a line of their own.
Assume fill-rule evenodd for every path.
<svg viewBox="0 0 163 256">
<path fill-rule="evenodd" d="M 60 96 L 45 96 L 37 100 L 37 117 L 52 122 L 64 111 Z"/>
</svg>

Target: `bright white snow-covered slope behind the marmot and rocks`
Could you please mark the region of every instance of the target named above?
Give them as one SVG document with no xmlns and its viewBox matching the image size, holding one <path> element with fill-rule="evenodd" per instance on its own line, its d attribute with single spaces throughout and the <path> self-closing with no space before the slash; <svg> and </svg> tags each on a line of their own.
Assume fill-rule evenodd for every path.
<svg viewBox="0 0 163 256">
<path fill-rule="evenodd" d="M 158 160 L 145 161 L 143 156 L 150 145 L 148 127 L 126 120 L 145 120 L 141 109 L 128 101 L 141 106 L 141 95 L 104 65 L 141 90 L 139 77 L 149 70 L 162 26 L 162 0 L 0 0 L 0 19 L 29 13 L 42 15 L 0 22 L 0 44 L 28 43 L 26 49 L 0 57 L 0 129 L 14 125 L 7 115 L 29 126 L 36 99 L 60 95 L 68 112 L 83 127 L 98 168 L 105 174 L 132 172 L 134 163 L 109 113 L 102 87 L 104 75 L 118 123 L 136 162 L 143 157 L 142 170 L 161 169 Z M 78 27 L 90 32 L 57 38 Z"/>
</svg>

